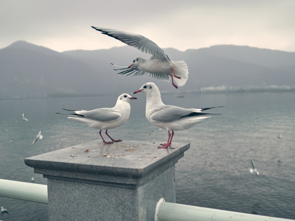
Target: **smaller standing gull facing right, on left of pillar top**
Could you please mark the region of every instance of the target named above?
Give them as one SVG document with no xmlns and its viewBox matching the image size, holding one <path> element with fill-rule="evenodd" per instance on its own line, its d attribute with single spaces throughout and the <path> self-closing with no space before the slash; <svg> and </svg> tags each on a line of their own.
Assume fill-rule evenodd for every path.
<svg viewBox="0 0 295 221">
<path fill-rule="evenodd" d="M 129 118 L 130 115 L 130 100 L 137 99 L 135 97 L 131 97 L 129 94 L 121 94 L 117 103 L 113 108 L 99 108 L 94 110 L 69 110 L 73 112 L 73 114 L 69 113 L 58 113 L 58 114 L 66 114 L 68 119 L 79 121 L 81 123 L 87 124 L 89 127 L 94 129 L 100 129 L 99 135 L 101 136 L 101 131 L 106 130 L 106 135 L 109 136 L 107 131 L 109 129 L 113 129 L 123 125 Z M 67 109 L 63 109 L 67 110 Z M 113 142 L 118 142 L 122 140 L 114 140 L 111 138 L 113 142 L 106 142 L 104 138 L 101 136 L 104 144 L 112 144 Z"/>
</svg>

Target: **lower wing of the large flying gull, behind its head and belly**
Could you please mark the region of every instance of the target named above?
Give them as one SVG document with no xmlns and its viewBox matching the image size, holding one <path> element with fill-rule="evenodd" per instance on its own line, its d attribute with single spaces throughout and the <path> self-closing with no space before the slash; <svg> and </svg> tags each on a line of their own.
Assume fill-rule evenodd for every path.
<svg viewBox="0 0 295 221">
<path fill-rule="evenodd" d="M 114 64 L 112 64 L 112 65 L 114 65 Z M 140 76 L 140 75 L 150 74 L 150 77 L 154 77 L 154 78 L 156 78 L 158 80 L 167 81 L 167 82 L 170 81 L 170 77 L 167 74 L 149 73 L 149 72 L 146 72 L 146 71 L 142 70 L 138 66 L 132 66 L 132 67 L 128 67 L 128 66 L 124 66 L 124 65 L 114 65 L 114 66 L 122 67 L 122 68 L 119 68 L 119 69 L 114 69 L 115 71 L 120 71 L 118 74 L 121 74 L 121 75 L 127 74 L 126 76 L 128 76 L 128 75 Z"/>
</svg>

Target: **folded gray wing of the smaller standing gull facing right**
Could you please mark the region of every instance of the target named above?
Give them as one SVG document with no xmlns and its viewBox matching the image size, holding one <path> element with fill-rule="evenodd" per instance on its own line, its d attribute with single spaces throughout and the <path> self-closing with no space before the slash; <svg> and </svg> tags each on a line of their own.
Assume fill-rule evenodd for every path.
<svg viewBox="0 0 295 221">
<path fill-rule="evenodd" d="M 96 121 L 116 121 L 121 118 L 121 114 L 112 110 L 112 108 L 99 108 L 95 110 L 78 110 L 77 114 L 83 115 L 86 118 L 96 120 Z"/>
</svg>

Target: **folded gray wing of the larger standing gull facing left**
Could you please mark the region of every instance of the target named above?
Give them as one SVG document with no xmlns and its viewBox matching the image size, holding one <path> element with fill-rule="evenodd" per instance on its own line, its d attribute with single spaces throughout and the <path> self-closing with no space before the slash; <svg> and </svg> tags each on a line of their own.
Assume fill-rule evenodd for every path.
<svg viewBox="0 0 295 221">
<path fill-rule="evenodd" d="M 161 105 L 157 108 L 153 108 L 152 113 L 153 114 L 150 116 L 150 119 L 152 121 L 170 122 L 175 121 L 178 118 L 187 116 L 191 114 L 192 111 L 173 105 Z"/>
</svg>

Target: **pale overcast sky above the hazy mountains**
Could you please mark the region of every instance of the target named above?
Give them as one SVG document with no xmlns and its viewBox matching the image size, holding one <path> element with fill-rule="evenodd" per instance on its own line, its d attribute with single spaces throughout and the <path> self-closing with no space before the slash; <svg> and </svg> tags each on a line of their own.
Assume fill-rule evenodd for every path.
<svg viewBox="0 0 295 221">
<path fill-rule="evenodd" d="M 0 48 L 18 40 L 58 52 L 124 45 L 91 26 L 181 51 L 235 44 L 295 52 L 294 0 L 0 1 Z"/>
</svg>

